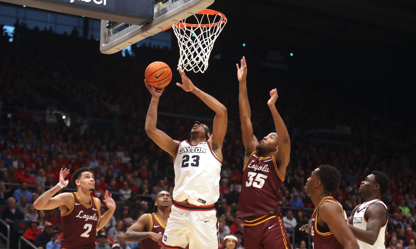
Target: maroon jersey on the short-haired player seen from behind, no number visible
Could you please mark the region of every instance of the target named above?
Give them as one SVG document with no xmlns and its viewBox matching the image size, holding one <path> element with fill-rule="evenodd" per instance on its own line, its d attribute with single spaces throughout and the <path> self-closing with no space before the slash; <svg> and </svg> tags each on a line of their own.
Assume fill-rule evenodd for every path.
<svg viewBox="0 0 416 249">
<path fill-rule="evenodd" d="M 314 248 L 319 249 L 343 249 L 344 246 L 338 242 L 335 238 L 334 234 L 329 230 L 328 227 L 322 227 L 318 224 L 318 213 L 319 213 L 319 206 L 323 202 L 334 202 L 339 205 L 339 215 L 343 215 L 345 217 L 345 222 L 347 222 L 347 214 L 344 212 L 341 204 L 337 202 L 336 199 L 332 196 L 327 196 L 319 203 L 318 207 L 315 208 L 315 211 L 312 214 L 312 245 Z"/>
</svg>

